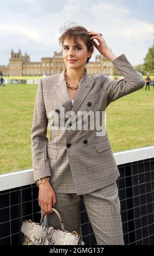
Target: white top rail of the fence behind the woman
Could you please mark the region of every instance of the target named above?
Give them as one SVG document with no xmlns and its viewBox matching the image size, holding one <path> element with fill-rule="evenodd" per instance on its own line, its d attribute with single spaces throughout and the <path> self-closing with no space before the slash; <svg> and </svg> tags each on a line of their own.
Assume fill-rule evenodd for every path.
<svg viewBox="0 0 154 256">
<path fill-rule="evenodd" d="M 154 146 L 120 151 L 114 153 L 113 155 L 117 165 L 132 163 L 154 157 Z M 30 185 L 33 183 L 33 169 L 21 170 L 0 175 L 0 191 Z"/>
</svg>

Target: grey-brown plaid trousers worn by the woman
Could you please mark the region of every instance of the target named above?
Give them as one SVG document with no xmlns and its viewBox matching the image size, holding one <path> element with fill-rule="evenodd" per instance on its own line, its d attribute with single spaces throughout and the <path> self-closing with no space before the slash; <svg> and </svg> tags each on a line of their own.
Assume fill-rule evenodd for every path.
<svg viewBox="0 0 154 256">
<path fill-rule="evenodd" d="M 117 183 L 82 197 L 97 245 L 124 245 Z M 60 212 L 66 230 L 82 235 L 80 199 L 76 193 L 56 193 L 55 209 Z M 61 228 L 55 213 L 48 215 L 47 221 L 49 226 Z"/>
</svg>

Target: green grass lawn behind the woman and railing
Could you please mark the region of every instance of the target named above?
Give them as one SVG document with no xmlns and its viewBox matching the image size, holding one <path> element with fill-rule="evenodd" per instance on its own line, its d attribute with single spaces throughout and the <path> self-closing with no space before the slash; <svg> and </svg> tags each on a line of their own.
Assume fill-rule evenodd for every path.
<svg viewBox="0 0 154 256">
<path fill-rule="evenodd" d="M 32 167 L 30 130 L 36 85 L 0 87 L 0 174 Z M 154 145 L 154 91 L 145 87 L 112 102 L 106 113 L 113 152 Z M 48 131 L 49 138 L 49 131 Z"/>
</svg>

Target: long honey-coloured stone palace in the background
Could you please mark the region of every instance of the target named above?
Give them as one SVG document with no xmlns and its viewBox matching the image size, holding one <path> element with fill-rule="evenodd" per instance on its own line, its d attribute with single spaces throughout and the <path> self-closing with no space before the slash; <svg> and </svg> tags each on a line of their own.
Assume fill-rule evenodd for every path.
<svg viewBox="0 0 154 256">
<path fill-rule="evenodd" d="M 11 50 L 9 65 L 3 69 L 3 76 L 43 76 L 61 73 L 65 69 L 62 52 L 54 52 L 53 57 L 42 57 L 41 62 L 30 62 L 30 56 L 22 55 L 19 50 Z M 95 62 L 86 64 L 88 75 L 104 73 L 107 76 L 118 74 L 112 62 L 101 54 L 95 56 Z"/>
</svg>

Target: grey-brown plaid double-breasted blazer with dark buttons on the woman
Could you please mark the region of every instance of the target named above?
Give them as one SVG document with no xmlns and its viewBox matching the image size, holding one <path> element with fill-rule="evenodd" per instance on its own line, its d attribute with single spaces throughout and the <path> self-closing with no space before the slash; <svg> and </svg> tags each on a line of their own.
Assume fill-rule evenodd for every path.
<svg viewBox="0 0 154 256">
<path fill-rule="evenodd" d="M 57 120 L 61 120 L 63 107 L 64 113 L 68 112 L 63 120 L 70 127 L 72 112 L 77 115 L 79 111 L 105 111 L 112 101 L 144 87 L 142 76 L 125 54 L 112 63 L 124 79 L 111 80 L 104 74 L 88 76 L 86 70 L 73 105 L 64 70 L 60 74 L 43 78 L 39 83 L 31 127 L 34 180 L 51 176 L 55 192 L 86 194 L 112 184 L 120 176 L 107 132 L 104 136 L 97 136 L 96 129 L 51 130 L 54 125 L 60 128 L 60 124 L 56 124 L 56 121 L 52 123 L 50 118 L 53 111 Z"/>
</svg>

